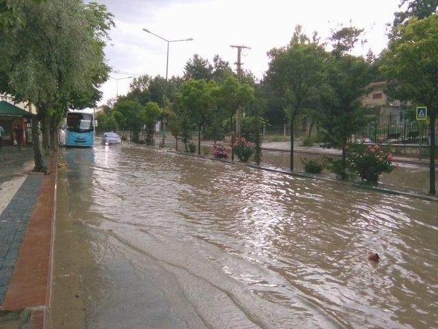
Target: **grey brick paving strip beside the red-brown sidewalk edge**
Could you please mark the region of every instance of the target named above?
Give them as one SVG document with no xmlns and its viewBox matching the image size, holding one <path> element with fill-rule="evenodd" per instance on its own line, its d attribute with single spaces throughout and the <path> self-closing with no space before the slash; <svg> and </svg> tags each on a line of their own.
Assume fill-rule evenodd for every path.
<svg viewBox="0 0 438 329">
<path fill-rule="evenodd" d="M 3 303 L 12 271 L 34 210 L 44 175 L 29 175 L 0 214 L 0 304 Z"/>
</svg>

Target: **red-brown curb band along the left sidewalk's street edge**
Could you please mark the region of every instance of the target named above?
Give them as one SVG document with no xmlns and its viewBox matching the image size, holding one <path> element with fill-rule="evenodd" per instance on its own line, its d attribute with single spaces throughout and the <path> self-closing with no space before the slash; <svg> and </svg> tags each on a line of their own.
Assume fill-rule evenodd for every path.
<svg viewBox="0 0 438 329">
<path fill-rule="evenodd" d="M 29 329 L 49 329 L 57 186 L 57 152 L 49 158 L 23 244 L 15 263 L 3 310 L 29 312 Z"/>
</svg>

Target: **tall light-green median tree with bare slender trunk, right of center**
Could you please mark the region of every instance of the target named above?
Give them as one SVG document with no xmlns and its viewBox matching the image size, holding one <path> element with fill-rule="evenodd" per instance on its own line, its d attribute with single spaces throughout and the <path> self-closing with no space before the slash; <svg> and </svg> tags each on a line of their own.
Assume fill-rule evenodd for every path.
<svg viewBox="0 0 438 329">
<path fill-rule="evenodd" d="M 268 56 L 268 79 L 281 90 L 287 104 L 286 113 L 291 125 L 290 169 L 294 170 L 295 120 L 324 84 L 327 54 L 322 46 L 302 34 L 298 25 L 290 44 L 271 49 Z"/>
</svg>

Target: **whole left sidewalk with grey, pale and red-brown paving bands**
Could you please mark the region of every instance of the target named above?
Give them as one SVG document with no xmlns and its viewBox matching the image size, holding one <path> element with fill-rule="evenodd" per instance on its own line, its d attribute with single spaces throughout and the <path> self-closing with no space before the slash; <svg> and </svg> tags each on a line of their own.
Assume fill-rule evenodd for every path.
<svg viewBox="0 0 438 329">
<path fill-rule="evenodd" d="M 56 160 L 32 173 L 31 147 L 0 150 L 0 328 L 49 328 Z"/>
</svg>

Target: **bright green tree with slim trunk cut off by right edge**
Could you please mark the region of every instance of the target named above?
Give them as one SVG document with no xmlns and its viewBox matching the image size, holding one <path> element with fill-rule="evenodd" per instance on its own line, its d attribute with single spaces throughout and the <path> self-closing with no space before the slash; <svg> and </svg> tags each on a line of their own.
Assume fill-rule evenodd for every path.
<svg viewBox="0 0 438 329">
<path fill-rule="evenodd" d="M 438 16 L 410 19 L 397 27 L 384 53 L 382 69 L 389 93 L 427 106 L 430 129 L 430 195 L 435 195 L 435 125 L 438 111 Z"/>
</svg>

